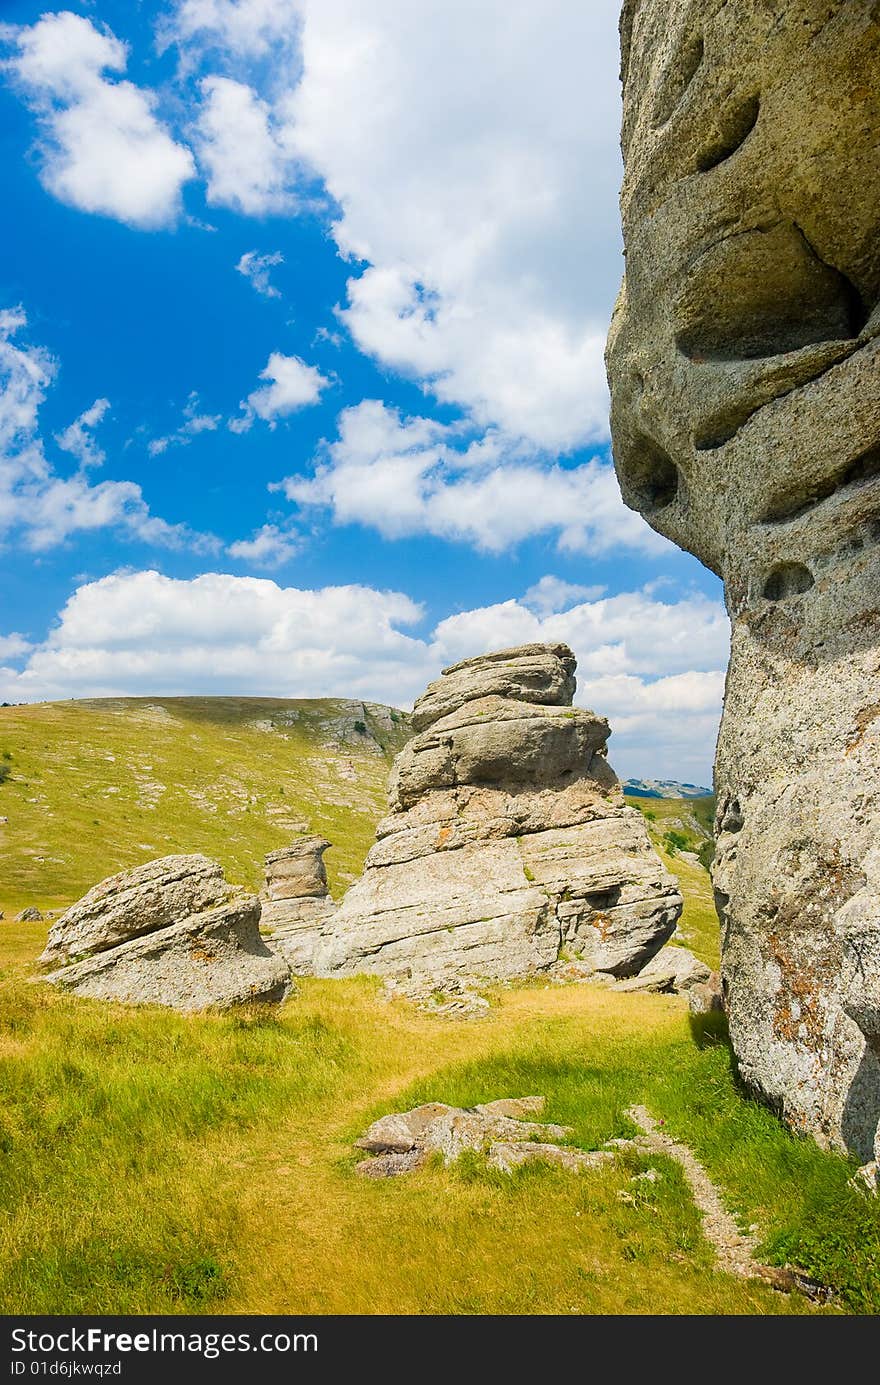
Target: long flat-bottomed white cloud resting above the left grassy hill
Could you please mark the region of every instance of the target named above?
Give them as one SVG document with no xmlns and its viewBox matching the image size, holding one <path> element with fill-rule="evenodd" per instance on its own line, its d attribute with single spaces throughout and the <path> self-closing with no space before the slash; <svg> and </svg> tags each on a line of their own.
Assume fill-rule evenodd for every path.
<svg viewBox="0 0 880 1385">
<path fill-rule="evenodd" d="M 176 580 L 122 573 L 79 587 L 0 699 L 71 695 L 263 692 L 394 701 L 430 673 L 421 641 L 401 632 L 420 608 L 396 591 L 301 591 L 261 578 Z"/>
</svg>

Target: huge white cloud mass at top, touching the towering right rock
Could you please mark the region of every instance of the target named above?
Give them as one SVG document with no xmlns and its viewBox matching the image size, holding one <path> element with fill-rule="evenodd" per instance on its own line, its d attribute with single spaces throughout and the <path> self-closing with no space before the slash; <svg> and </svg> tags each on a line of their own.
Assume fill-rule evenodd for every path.
<svg viewBox="0 0 880 1385">
<path fill-rule="evenodd" d="M 617 7 L 308 0 L 290 143 L 341 212 L 345 321 L 481 425 L 606 435 Z"/>
</svg>

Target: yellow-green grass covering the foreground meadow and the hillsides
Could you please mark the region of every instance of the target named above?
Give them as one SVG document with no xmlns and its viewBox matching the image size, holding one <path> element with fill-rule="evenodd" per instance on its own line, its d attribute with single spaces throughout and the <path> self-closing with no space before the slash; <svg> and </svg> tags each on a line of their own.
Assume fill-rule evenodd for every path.
<svg viewBox="0 0 880 1385">
<path fill-rule="evenodd" d="M 62 734 L 53 741 L 37 730 L 36 709 L 6 711 L 17 713 L 17 724 L 26 723 L 24 713 L 33 720 L 28 748 L 21 735 L 11 742 L 15 780 L 0 792 L 12 785 L 26 802 L 19 773 L 36 760 L 25 753 L 47 747 L 36 766 L 40 780 L 26 780 L 39 785 L 43 807 L 62 814 L 65 802 L 85 798 L 83 814 L 94 812 L 89 795 L 101 781 L 91 770 L 91 778 L 80 769 L 69 784 L 57 783 L 65 766 L 78 763 L 69 749 L 76 726 L 64 724 L 64 713 L 76 713 L 64 706 Z M 107 735 L 123 737 L 118 713 L 104 706 L 100 715 L 109 717 Z M 331 770 L 322 780 L 326 727 L 302 738 L 299 753 L 312 765 L 306 783 L 290 753 L 292 738 L 243 726 L 263 715 L 230 712 L 226 723 L 204 709 L 202 720 L 179 706 L 169 715 L 175 724 L 162 719 L 161 733 L 147 738 L 151 774 L 165 792 L 152 810 L 132 802 L 137 825 L 125 830 L 133 837 L 115 839 L 116 850 L 134 849 L 146 820 L 155 824 L 154 838 L 159 827 L 173 832 L 176 820 L 162 817 L 161 805 L 193 802 L 194 785 L 186 788 L 193 769 L 204 770 L 216 799 L 218 763 L 233 759 L 256 802 L 249 814 L 236 810 L 238 831 L 226 846 L 229 817 L 215 823 L 213 813 L 187 809 L 188 849 L 218 855 L 245 878 L 247 863 L 259 863 L 263 846 L 283 832 L 267 814 L 277 801 L 267 792 L 263 801 L 261 784 L 290 787 L 291 798 L 297 784 L 302 812 L 308 805 L 309 824 L 319 827 L 322 809 L 310 794 L 324 780 L 335 783 L 337 756 L 349 758 L 348 749 L 330 748 Z M 91 765 L 107 742 L 94 735 L 89 744 L 90 752 L 76 745 L 76 753 Z M 121 762 L 140 763 L 122 741 L 109 753 L 115 762 L 104 763 L 116 774 Z M 337 819 L 337 850 L 349 871 L 371 835 L 369 795 L 374 817 L 387 773 L 376 751 L 362 752 L 370 756 L 363 769 L 356 753 L 351 759 L 363 780 L 342 783 L 363 801 L 356 810 L 327 809 L 351 814 Z M 284 756 L 285 776 L 272 777 Z M 682 805 L 669 802 L 639 806 L 654 812 L 661 805 L 647 821 L 682 881 L 686 940 L 714 961 L 708 877 L 667 841 L 679 831 L 669 821 L 682 817 Z M 226 812 L 218 803 L 216 813 Z M 53 897 L 67 903 L 103 871 L 90 838 L 83 864 L 75 825 L 62 816 L 51 821 L 47 853 L 69 855 L 58 863 Z M 346 823 L 352 837 L 344 839 Z M 29 841 L 15 830 L 22 832 L 17 841 Z M 692 831 L 685 852 L 698 843 Z M 168 841 L 165 849 L 184 846 Z M 30 902 L 33 866 L 14 855 L 4 861 L 18 871 L 15 902 Z M 279 1010 L 183 1017 L 32 985 L 44 935 L 46 924 L 0 924 L 3 1313 L 880 1310 L 880 1212 L 850 1187 L 852 1163 L 791 1136 L 748 1100 L 718 1022 L 693 1021 L 678 997 L 536 981 L 489 993 L 482 1021 L 449 1022 L 405 1000 L 384 1001 L 366 978 L 306 979 Z M 660 1156 L 628 1154 L 618 1166 L 579 1176 L 539 1166 L 504 1176 L 477 1158 L 385 1183 L 353 1172 L 353 1140 L 385 1111 L 532 1093 L 547 1097 L 546 1118 L 571 1125 L 574 1143 L 586 1148 L 632 1133 L 624 1112 L 643 1102 L 693 1147 L 740 1223 L 758 1228 L 764 1259 L 800 1266 L 831 1287 L 833 1302 L 816 1307 L 719 1273 L 678 1165 Z M 660 1181 L 631 1183 L 649 1165 Z"/>
</svg>

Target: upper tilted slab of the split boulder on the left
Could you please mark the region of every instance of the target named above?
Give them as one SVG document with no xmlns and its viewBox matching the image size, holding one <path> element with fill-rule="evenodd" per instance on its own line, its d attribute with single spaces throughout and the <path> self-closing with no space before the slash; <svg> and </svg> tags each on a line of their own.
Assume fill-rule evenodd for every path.
<svg viewBox="0 0 880 1385">
<path fill-rule="evenodd" d="M 43 965 L 115 947 L 220 904 L 230 893 L 223 868 L 206 856 L 162 856 L 109 875 L 49 929 Z"/>
</svg>

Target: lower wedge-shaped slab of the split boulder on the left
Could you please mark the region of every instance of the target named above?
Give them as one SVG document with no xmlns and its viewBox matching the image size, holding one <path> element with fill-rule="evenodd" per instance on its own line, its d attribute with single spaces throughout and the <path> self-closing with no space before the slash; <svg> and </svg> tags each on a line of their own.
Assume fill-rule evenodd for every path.
<svg viewBox="0 0 880 1385">
<path fill-rule="evenodd" d="M 259 936 L 255 895 L 237 895 L 44 979 L 94 1000 L 183 1011 L 283 1000 L 291 989 L 287 964 Z"/>
</svg>

